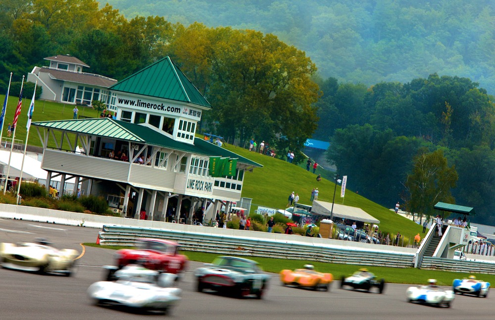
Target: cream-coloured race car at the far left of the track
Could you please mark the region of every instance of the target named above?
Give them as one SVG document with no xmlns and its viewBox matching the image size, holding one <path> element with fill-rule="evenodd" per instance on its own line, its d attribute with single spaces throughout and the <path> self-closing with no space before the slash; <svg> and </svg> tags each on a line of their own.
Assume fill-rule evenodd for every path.
<svg viewBox="0 0 495 320">
<path fill-rule="evenodd" d="M 74 259 L 79 253 L 72 249 L 58 250 L 49 246 L 46 239 L 37 243 L 0 243 L 0 263 L 2 267 L 38 272 L 62 272 L 67 276 L 73 273 Z"/>
</svg>

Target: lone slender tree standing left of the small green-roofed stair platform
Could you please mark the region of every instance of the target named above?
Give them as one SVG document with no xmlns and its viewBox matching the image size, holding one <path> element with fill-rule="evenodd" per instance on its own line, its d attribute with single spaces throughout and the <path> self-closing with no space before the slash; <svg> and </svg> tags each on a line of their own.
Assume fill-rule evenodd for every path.
<svg viewBox="0 0 495 320">
<path fill-rule="evenodd" d="M 437 202 L 454 203 L 451 189 L 455 187 L 457 179 L 455 166 L 447 165 L 441 149 L 431 153 L 422 150 L 414 158 L 412 172 L 407 175 L 404 184 L 409 196 L 405 203 L 406 209 L 431 217 Z"/>
</svg>

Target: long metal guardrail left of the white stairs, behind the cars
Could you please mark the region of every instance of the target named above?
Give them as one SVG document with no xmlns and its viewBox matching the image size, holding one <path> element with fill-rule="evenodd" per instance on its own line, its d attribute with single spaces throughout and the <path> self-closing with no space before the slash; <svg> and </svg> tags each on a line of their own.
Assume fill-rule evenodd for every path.
<svg viewBox="0 0 495 320">
<path fill-rule="evenodd" d="M 298 236 L 293 236 L 296 239 Z M 413 254 L 337 249 L 294 242 L 249 239 L 151 228 L 104 225 L 99 232 L 102 245 L 132 246 L 138 238 L 160 238 L 178 242 L 184 250 L 223 255 L 320 261 L 363 266 L 412 267 Z M 303 238 L 301 236 L 301 238 Z M 332 240 L 329 240 L 332 241 Z M 376 247 L 375 247 L 376 248 Z"/>
</svg>

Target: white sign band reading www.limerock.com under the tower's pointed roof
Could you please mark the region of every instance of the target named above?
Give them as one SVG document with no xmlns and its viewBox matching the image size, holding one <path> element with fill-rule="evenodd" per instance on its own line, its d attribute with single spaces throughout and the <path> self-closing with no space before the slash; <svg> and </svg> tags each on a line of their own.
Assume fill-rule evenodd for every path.
<svg viewBox="0 0 495 320">
<path fill-rule="evenodd" d="M 128 96 L 118 94 L 115 105 L 124 110 L 153 113 L 171 117 L 183 117 L 193 120 L 201 120 L 202 111 L 199 108 L 182 106 L 169 101 L 150 99 L 143 96 Z"/>
</svg>

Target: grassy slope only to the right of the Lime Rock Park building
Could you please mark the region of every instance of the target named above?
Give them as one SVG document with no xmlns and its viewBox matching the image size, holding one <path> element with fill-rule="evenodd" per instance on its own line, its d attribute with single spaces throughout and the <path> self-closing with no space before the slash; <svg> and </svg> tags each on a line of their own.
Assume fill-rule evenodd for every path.
<svg viewBox="0 0 495 320">
<path fill-rule="evenodd" d="M 262 168 L 255 168 L 253 172 L 245 174 L 243 197 L 252 198 L 251 212 L 256 210 L 257 206 L 286 208 L 289 194 L 293 191 L 299 194 L 299 203 L 310 205 L 311 191 L 316 187 L 319 190 L 318 200 L 332 202 L 335 184 L 327 179 L 316 181 L 316 174 L 312 170 L 308 172 L 296 164 L 249 152 L 243 148 L 236 148 L 231 145 L 226 148 L 263 165 Z M 352 177 L 348 177 L 348 179 L 352 179 Z M 346 197 L 341 198 L 340 185 L 337 186 L 335 203 L 361 208 L 380 220 L 382 233 L 389 232 L 392 235 L 399 231 L 405 237 L 405 242 L 423 229 L 417 223 L 351 190 L 347 189 Z"/>
</svg>

